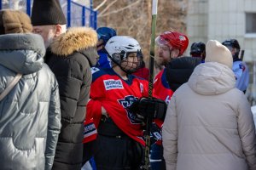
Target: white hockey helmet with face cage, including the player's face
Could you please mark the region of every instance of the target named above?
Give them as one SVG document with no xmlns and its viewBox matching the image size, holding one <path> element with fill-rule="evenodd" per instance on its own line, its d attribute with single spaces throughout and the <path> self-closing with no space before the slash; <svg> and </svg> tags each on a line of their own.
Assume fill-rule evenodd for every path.
<svg viewBox="0 0 256 170">
<path fill-rule="evenodd" d="M 122 71 L 131 74 L 142 65 L 143 54 L 137 40 L 131 37 L 116 36 L 109 39 L 105 47 L 108 57 L 115 65 L 119 65 Z M 129 54 L 135 53 L 129 58 Z M 129 59 L 128 59 L 129 58 Z"/>
</svg>

